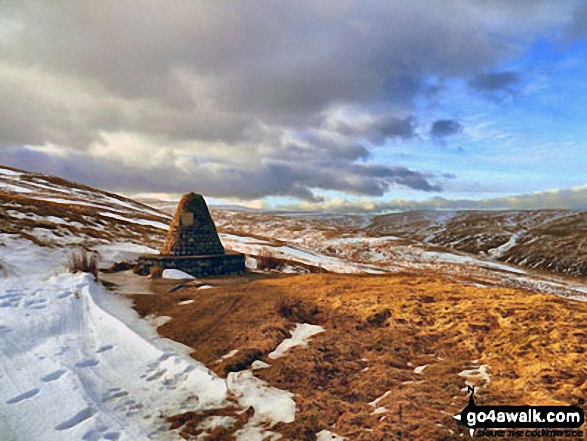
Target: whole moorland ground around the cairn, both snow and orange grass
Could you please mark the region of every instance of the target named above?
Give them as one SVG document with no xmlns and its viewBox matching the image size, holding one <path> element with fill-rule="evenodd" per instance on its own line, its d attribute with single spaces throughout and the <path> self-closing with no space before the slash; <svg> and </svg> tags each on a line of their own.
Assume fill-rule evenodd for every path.
<svg viewBox="0 0 587 441">
<path fill-rule="evenodd" d="M 585 395 L 585 279 L 495 260 L 581 213 L 461 219 L 462 243 L 502 234 L 475 255 L 433 243 L 473 213 L 216 207 L 247 274 L 95 279 L 72 253 L 156 252 L 169 214 L 5 167 L 0 196 L 2 441 L 454 440 L 467 384 L 487 404 Z"/>
</svg>

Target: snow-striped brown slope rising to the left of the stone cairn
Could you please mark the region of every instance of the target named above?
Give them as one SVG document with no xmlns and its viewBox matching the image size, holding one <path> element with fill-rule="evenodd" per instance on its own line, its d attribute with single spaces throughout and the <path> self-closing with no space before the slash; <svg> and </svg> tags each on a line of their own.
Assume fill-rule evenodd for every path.
<svg viewBox="0 0 587 441">
<path fill-rule="evenodd" d="M 168 214 L 115 194 L 0 167 L 0 271 L 5 275 L 16 270 L 12 253 L 26 253 L 31 243 L 40 249 L 101 251 L 102 266 L 123 254 L 152 252 L 169 221 Z"/>
</svg>

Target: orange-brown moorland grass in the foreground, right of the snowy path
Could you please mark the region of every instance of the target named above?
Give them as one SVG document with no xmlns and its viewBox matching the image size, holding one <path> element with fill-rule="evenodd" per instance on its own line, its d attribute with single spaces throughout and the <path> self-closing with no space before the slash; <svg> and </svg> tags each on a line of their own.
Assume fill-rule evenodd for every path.
<svg viewBox="0 0 587 441">
<path fill-rule="evenodd" d="M 187 299 L 196 301 L 178 305 Z M 466 430 L 452 418 L 467 401 L 459 373 L 480 365 L 490 381 L 468 378 L 480 387 L 478 404 L 575 404 L 587 394 L 587 304 L 555 296 L 438 275 L 310 274 L 134 300 L 142 315 L 173 317 L 159 333 L 221 376 L 255 359 L 271 364 L 255 374 L 295 393 L 296 421 L 274 428 L 285 439 L 313 440 L 322 429 L 351 440 L 460 439 Z M 326 332 L 268 359 L 299 322 Z M 387 391 L 378 403 L 387 412 L 373 415 L 368 403 Z M 169 416 L 184 437 L 201 432 L 201 416 Z"/>
</svg>

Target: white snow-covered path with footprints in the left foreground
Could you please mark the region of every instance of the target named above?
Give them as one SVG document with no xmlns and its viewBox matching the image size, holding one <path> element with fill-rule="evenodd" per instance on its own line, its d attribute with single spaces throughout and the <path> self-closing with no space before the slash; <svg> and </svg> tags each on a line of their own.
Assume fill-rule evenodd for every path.
<svg viewBox="0 0 587 441">
<path fill-rule="evenodd" d="M 249 371 L 216 376 L 190 348 L 159 337 L 127 298 L 64 272 L 64 249 L 18 245 L 0 253 L 11 263 L 0 275 L 1 441 L 181 440 L 165 417 L 234 407 L 228 395 L 255 409 L 237 439 L 265 439 L 294 420 L 292 394 Z"/>
</svg>

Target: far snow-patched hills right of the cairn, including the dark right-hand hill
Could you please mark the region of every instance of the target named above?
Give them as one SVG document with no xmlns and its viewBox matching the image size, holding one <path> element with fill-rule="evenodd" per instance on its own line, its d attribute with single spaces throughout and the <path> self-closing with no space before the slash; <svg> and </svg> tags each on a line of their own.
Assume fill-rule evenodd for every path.
<svg viewBox="0 0 587 441">
<path fill-rule="evenodd" d="M 385 238 L 394 238 L 395 250 L 401 250 L 403 256 L 442 247 L 448 253 L 587 276 L 585 211 L 413 211 L 342 216 L 214 210 L 214 215 L 221 231 L 295 242 L 314 251 L 322 247 L 326 254 L 338 252 L 345 240 L 347 245 L 354 243 L 346 248 L 358 249 L 362 238 L 379 245 L 391 245 Z M 346 257 L 351 256 L 347 253 Z M 401 262 L 402 256 L 375 252 L 373 259 L 389 264 Z"/>
</svg>

